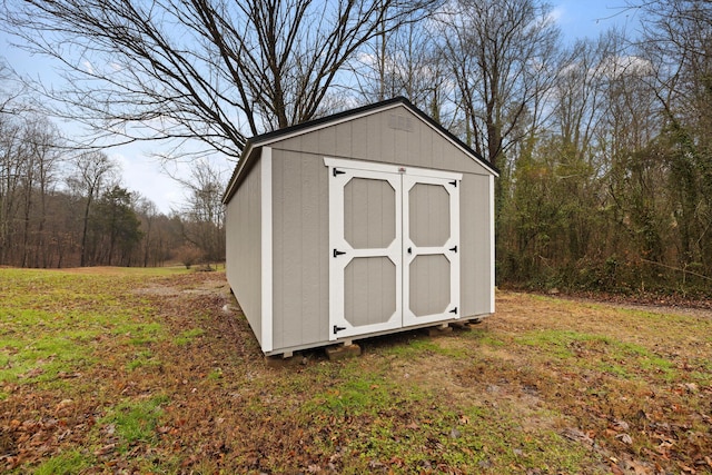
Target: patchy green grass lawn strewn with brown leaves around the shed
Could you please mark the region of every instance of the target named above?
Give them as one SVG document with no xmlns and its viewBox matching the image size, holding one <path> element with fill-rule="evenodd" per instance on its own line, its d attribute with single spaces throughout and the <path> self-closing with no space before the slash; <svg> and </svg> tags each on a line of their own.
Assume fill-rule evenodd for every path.
<svg viewBox="0 0 712 475">
<path fill-rule="evenodd" d="M 222 273 L 0 269 L 0 471 L 712 473 L 712 315 L 497 294 L 270 367 Z"/>
</svg>

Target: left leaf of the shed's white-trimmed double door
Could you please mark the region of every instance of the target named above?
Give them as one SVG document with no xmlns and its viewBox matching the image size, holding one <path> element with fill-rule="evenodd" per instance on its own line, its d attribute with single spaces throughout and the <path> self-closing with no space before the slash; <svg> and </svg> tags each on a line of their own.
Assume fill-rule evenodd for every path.
<svg viewBox="0 0 712 475">
<path fill-rule="evenodd" d="M 400 176 L 348 168 L 329 172 L 329 338 L 398 328 Z"/>
</svg>

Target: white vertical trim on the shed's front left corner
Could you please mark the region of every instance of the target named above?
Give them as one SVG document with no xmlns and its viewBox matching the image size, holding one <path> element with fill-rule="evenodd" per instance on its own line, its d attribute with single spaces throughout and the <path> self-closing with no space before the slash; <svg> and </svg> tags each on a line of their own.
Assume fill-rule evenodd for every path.
<svg viewBox="0 0 712 475">
<path fill-rule="evenodd" d="M 261 201 L 261 347 L 271 352 L 273 337 L 273 229 L 271 229 L 271 147 L 263 147 L 260 157 Z"/>
</svg>

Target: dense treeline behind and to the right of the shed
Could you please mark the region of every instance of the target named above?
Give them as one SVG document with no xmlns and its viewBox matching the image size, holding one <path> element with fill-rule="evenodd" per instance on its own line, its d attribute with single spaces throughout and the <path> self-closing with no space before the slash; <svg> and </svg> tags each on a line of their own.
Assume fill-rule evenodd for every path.
<svg viewBox="0 0 712 475">
<path fill-rule="evenodd" d="M 501 285 L 712 293 L 712 3 L 626 4 L 565 42 L 541 2 L 448 2 L 359 62 L 501 170 Z"/>
</svg>

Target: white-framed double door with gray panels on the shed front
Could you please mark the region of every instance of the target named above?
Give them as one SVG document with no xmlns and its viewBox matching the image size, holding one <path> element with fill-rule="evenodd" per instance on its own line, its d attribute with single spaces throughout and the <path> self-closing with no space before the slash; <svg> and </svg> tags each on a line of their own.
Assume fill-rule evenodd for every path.
<svg viewBox="0 0 712 475">
<path fill-rule="evenodd" d="M 462 175 L 325 164 L 330 339 L 458 318 Z"/>
</svg>

